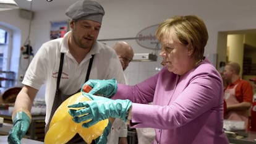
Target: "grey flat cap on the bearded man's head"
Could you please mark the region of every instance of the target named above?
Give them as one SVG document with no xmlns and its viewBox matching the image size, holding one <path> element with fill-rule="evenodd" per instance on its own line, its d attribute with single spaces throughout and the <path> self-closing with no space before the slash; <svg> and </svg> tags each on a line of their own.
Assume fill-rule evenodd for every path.
<svg viewBox="0 0 256 144">
<path fill-rule="evenodd" d="M 79 0 L 69 6 L 66 15 L 72 20 L 93 20 L 102 22 L 105 11 L 103 7 L 95 1 Z"/>
</svg>

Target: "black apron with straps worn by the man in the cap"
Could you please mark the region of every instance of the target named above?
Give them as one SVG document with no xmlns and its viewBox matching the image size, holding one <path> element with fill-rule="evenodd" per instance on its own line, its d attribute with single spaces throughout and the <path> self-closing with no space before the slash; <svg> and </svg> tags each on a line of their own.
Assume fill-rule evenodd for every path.
<svg viewBox="0 0 256 144">
<path fill-rule="evenodd" d="M 87 80 L 89 79 L 90 71 L 92 69 L 93 57 L 94 57 L 94 54 L 92 55 L 92 57 L 90 59 L 90 62 L 89 62 L 89 66 L 88 66 L 88 69 L 87 69 L 87 74 L 86 74 L 85 82 L 87 82 Z M 54 97 L 54 101 L 53 101 L 53 107 L 51 109 L 51 114 L 50 114 L 50 117 L 49 117 L 49 122 L 48 122 L 48 124 L 45 127 L 45 133 L 49 129 L 49 124 L 51 122 L 51 119 L 52 119 L 53 114 L 56 111 L 56 109 L 58 109 L 58 107 L 61 105 L 61 103 L 63 101 L 65 101 L 67 98 L 72 96 L 72 95 L 65 95 L 65 94 L 63 94 L 61 92 L 61 90 L 59 90 L 59 82 L 61 81 L 61 73 L 62 73 L 63 61 L 64 61 L 64 53 L 61 53 L 61 61 L 60 61 L 60 64 L 59 64 L 59 72 L 58 72 L 58 78 L 57 78 L 56 93 L 55 93 L 55 97 Z M 78 93 L 78 92 L 80 92 L 80 89 L 77 90 L 75 93 Z M 93 140 L 92 143 L 95 143 L 95 141 Z M 77 133 L 77 134 L 75 134 L 75 136 L 71 140 L 69 140 L 69 142 L 67 142 L 67 144 L 86 144 L 86 142 Z"/>
</svg>

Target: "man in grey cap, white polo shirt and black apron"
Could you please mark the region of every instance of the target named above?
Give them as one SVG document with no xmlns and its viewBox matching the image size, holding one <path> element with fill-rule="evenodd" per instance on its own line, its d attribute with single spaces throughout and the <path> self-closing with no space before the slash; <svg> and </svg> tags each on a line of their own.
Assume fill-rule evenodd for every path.
<svg viewBox="0 0 256 144">
<path fill-rule="evenodd" d="M 77 93 L 88 78 L 117 78 L 119 82 L 125 82 L 114 50 L 96 41 L 104 14 L 103 7 L 90 0 L 77 1 L 67 9 L 72 30 L 64 38 L 44 43 L 23 78 L 24 86 L 17 95 L 12 114 L 14 127 L 9 132 L 9 143 L 20 143 L 27 132 L 33 100 L 44 83 L 47 132 L 54 111 Z M 79 136 L 78 139 L 68 143 L 85 143 Z"/>
</svg>

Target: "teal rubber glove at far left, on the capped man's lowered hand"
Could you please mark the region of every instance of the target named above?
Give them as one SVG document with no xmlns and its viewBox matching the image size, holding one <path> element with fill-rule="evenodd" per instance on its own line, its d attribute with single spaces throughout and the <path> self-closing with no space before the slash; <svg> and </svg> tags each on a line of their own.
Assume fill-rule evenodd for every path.
<svg viewBox="0 0 256 144">
<path fill-rule="evenodd" d="M 9 144 L 21 144 L 20 140 L 28 131 L 30 117 L 23 111 L 16 112 L 13 117 L 13 127 L 8 135 Z"/>
</svg>

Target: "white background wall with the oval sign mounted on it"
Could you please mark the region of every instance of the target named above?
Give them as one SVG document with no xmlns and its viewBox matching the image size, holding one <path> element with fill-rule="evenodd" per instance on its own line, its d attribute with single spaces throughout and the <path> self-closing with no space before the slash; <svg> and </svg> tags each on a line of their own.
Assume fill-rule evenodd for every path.
<svg viewBox="0 0 256 144">
<path fill-rule="evenodd" d="M 209 41 L 205 48 L 205 56 L 214 61 L 218 32 L 229 30 L 247 30 L 256 28 L 256 1 L 254 0 L 215 0 L 215 1 L 186 1 L 186 0 L 130 0 L 130 1 L 100 1 L 105 8 L 106 14 L 103 19 L 103 25 L 99 39 L 108 38 L 129 38 L 135 37 L 145 27 L 160 23 L 162 20 L 173 15 L 195 14 L 201 17 L 208 28 Z M 40 48 L 41 44 L 49 40 L 50 21 L 66 20 L 64 15 L 66 9 L 53 9 L 52 11 L 36 12 L 35 19 L 32 22 L 31 41 L 34 51 Z M 28 20 L 20 19 L 17 10 L 0 12 L 1 21 L 11 23 L 20 28 L 22 33 L 22 42 L 28 33 Z M 148 52 L 148 49 L 139 48 L 134 42 L 135 53 Z M 151 51 L 149 51 L 151 52 Z M 158 58 L 158 61 L 161 61 Z M 158 63 L 132 63 L 127 73 L 136 74 L 135 67 L 141 68 L 147 65 L 154 67 L 160 66 Z M 154 70 L 142 70 L 142 78 L 155 74 Z M 131 77 L 131 76 L 130 76 Z M 139 76 L 137 76 L 139 77 Z M 135 80 L 136 81 L 136 80 Z M 132 81 L 131 83 L 135 83 Z M 141 81 L 139 78 L 138 82 Z"/>
</svg>

